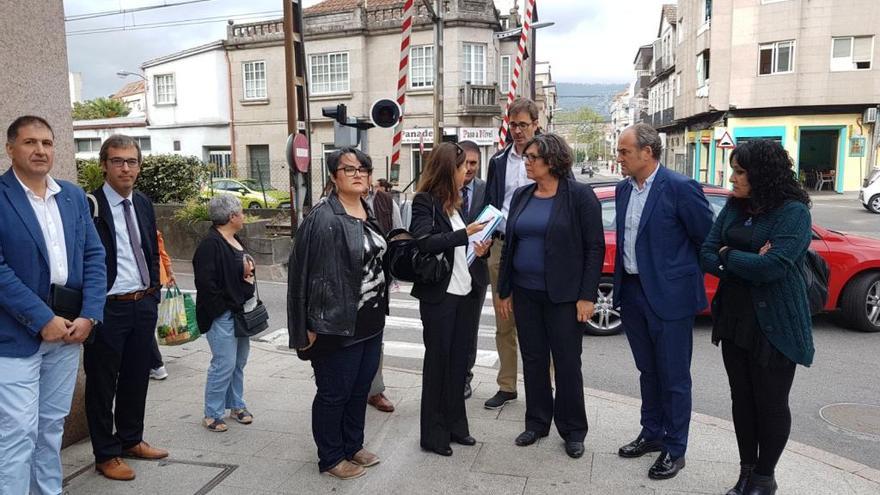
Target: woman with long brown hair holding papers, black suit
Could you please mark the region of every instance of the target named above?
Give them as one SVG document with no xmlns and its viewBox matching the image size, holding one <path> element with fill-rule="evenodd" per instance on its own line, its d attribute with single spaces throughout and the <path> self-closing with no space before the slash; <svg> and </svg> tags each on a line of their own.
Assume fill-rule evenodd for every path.
<svg viewBox="0 0 880 495">
<path fill-rule="evenodd" d="M 467 298 L 475 290 L 467 264 L 468 237 L 485 224 L 465 226 L 458 213 L 467 167 L 464 150 L 442 143 L 428 157 L 413 198 L 410 231 L 419 239 L 422 252 L 439 254 L 452 266 L 449 275 L 436 284 L 413 285 L 422 317 L 425 361 L 422 369 L 421 437 L 423 449 L 452 455 L 450 441 L 474 445 L 464 407 L 470 339 L 479 321 L 473 317 Z M 483 256 L 490 242 L 475 243 Z"/>
</svg>

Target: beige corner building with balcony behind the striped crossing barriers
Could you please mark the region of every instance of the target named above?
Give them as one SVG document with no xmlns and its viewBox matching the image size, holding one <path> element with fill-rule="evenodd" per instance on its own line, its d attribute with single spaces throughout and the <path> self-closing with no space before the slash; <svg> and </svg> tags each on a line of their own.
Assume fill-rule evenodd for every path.
<svg viewBox="0 0 880 495">
<path fill-rule="evenodd" d="M 321 116 L 321 108 L 344 103 L 349 116 L 366 116 L 376 100 L 397 97 L 402 6 L 396 0 L 326 0 L 304 11 L 313 191 L 323 188 L 324 157 L 334 149 L 333 122 Z M 492 0 L 450 1 L 445 8 L 444 135 L 438 139 L 432 130 L 433 24 L 425 6 L 416 2 L 397 178 L 400 189 L 419 176 L 423 156 L 435 142 L 474 140 L 483 149 L 484 164 L 496 149 L 519 39 L 519 15 L 516 10 L 502 15 Z M 535 98 L 534 36 L 532 40 L 517 93 Z M 551 91 L 543 82 L 549 81 L 543 80 L 542 88 Z M 545 107 L 552 108 L 544 98 Z M 376 178 L 391 178 L 392 133 L 391 129 L 372 129 L 361 145 L 373 158 Z"/>
</svg>

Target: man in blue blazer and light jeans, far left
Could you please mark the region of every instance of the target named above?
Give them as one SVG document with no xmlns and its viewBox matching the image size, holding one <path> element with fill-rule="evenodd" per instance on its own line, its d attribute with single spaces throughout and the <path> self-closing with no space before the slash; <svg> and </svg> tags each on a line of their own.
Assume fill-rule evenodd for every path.
<svg viewBox="0 0 880 495">
<path fill-rule="evenodd" d="M 82 189 L 49 175 L 54 139 L 49 123 L 34 116 L 19 117 L 6 133 L 12 167 L 0 176 L 3 493 L 61 493 L 61 435 L 80 343 L 104 314 L 104 248 Z M 74 301 L 67 310 L 59 309 L 62 292 L 63 302 Z"/>
</svg>

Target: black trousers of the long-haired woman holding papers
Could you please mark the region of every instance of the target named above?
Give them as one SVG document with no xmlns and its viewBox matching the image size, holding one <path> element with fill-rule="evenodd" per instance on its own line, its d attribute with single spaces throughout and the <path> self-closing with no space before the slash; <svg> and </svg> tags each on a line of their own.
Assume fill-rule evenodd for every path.
<svg viewBox="0 0 880 495">
<path fill-rule="evenodd" d="M 425 343 L 420 443 L 426 449 L 446 448 L 452 436 L 470 435 L 464 379 L 477 322 L 469 297 L 445 294 L 438 303 L 419 303 Z"/>
</svg>

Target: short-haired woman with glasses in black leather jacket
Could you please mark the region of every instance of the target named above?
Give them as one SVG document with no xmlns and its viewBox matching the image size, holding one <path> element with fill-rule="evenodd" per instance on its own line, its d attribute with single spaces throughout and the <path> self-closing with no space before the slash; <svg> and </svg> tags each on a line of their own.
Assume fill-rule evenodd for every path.
<svg viewBox="0 0 880 495">
<path fill-rule="evenodd" d="M 289 264 L 289 345 L 315 372 L 318 468 L 340 479 L 357 478 L 379 463 L 363 445 L 367 395 L 388 313 L 387 245 L 362 198 L 372 169 L 358 149 L 328 157 L 333 191 L 297 229 Z"/>
</svg>

